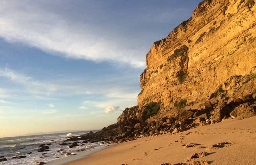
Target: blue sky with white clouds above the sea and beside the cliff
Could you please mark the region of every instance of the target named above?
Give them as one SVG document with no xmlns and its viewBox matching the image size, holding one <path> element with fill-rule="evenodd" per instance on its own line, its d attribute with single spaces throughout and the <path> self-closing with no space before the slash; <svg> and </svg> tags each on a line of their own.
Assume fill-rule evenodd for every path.
<svg viewBox="0 0 256 165">
<path fill-rule="evenodd" d="M 0 137 L 116 123 L 152 44 L 200 1 L 0 0 Z"/>
</svg>

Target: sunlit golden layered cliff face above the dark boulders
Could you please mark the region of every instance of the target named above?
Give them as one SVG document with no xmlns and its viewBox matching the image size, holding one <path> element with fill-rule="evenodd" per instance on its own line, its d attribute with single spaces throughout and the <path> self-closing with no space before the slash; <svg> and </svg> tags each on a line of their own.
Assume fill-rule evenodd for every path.
<svg viewBox="0 0 256 165">
<path fill-rule="evenodd" d="M 255 20 L 255 6 L 247 0 L 199 4 L 189 20 L 155 42 L 146 55 L 139 109 L 161 100 L 158 115 L 178 115 L 180 109 L 200 109 L 207 101 L 214 104 L 211 94 L 219 87 L 225 88 L 226 97 L 240 92 L 243 84 L 231 90 L 225 83 L 232 76 L 255 74 Z M 245 90 L 255 93 L 254 86 Z M 182 100 L 186 103 L 177 108 Z"/>
</svg>

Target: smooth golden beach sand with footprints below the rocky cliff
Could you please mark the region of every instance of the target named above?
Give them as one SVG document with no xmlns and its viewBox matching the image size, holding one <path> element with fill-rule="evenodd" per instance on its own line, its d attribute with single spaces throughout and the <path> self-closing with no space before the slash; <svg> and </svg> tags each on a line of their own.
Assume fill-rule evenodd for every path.
<svg viewBox="0 0 256 165">
<path fill-rule="evenodd" d="M 185 162 L 199 165 L 255 165 L 256 116 L 115 144 L 64 165 L 160 165 Z"/>
</svg>

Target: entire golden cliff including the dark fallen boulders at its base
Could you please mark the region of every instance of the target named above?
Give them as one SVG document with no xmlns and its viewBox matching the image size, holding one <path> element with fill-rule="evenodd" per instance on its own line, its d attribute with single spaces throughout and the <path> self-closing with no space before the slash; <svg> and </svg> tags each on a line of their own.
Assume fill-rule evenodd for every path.
<svg viewBox="0 0 256 165">
<path fill-rule="evenodd" d="M 202 1 L 147 53 L 138 105 L 97 135 L 122 142 L 254 116 L 255 8 L 253 0 Z"/>
</svg>

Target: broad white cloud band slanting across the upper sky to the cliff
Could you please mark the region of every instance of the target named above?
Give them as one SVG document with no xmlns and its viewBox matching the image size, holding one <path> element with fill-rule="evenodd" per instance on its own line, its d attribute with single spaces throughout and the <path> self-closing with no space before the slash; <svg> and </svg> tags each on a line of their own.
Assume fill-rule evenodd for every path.
<svg viewBox="0 0 256 165">
<path fill-rule="evenodd" d="M 112 61 L 144 68 L 145 52 L 124 47 L 126 40 L 120 42 L 113 33 L 107 28 L 74 22 L 72 18 L 68 20 L 61 14 L 45 11 L 40 4 L 1 2 L 0 36 L 8 42 L 58 52 L 73 59 Z"/>
</svg>

